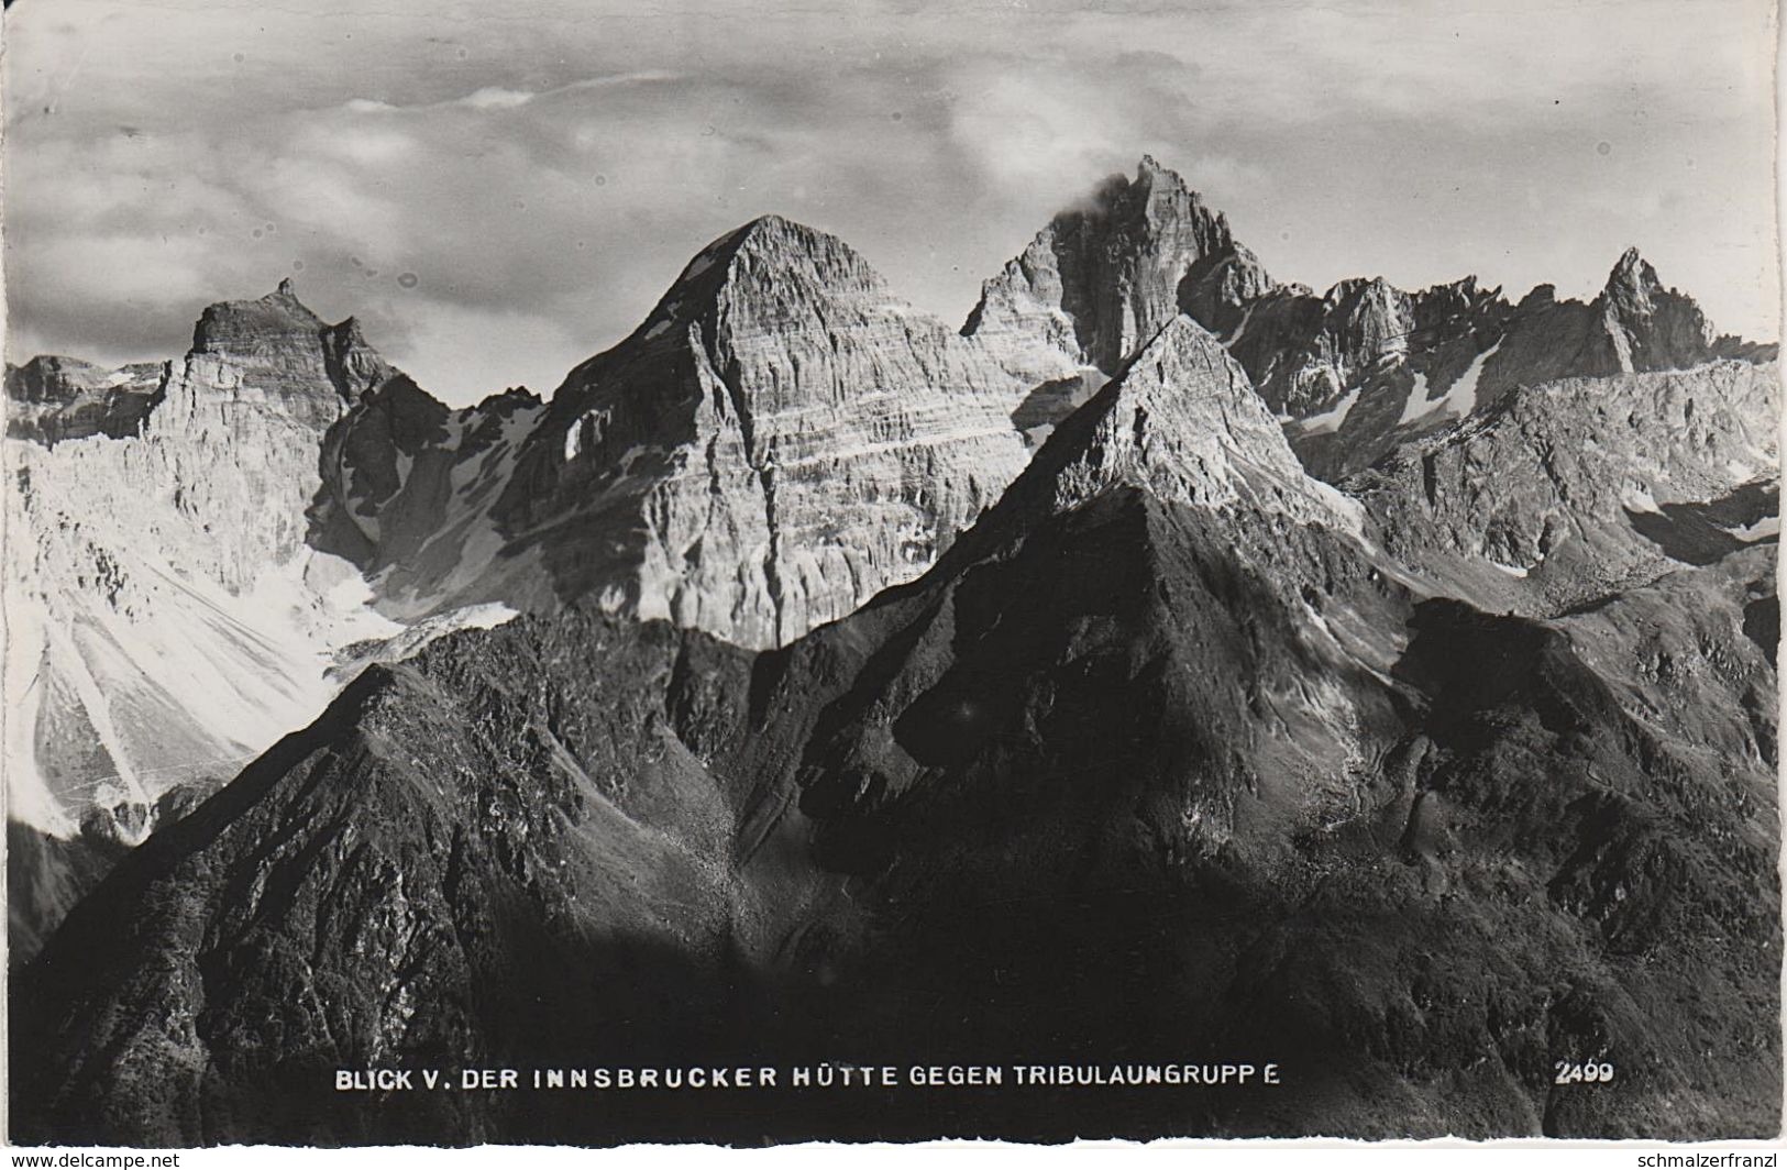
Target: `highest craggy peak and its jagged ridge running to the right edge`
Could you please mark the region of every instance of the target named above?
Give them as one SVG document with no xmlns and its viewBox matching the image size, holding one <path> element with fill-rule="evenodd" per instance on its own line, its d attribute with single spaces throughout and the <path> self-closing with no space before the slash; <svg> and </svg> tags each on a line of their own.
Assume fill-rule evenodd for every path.
<svg viewBox="0 0 1787 1170">
<path fill-rule="evenodd" d="M 1417 293 L 1381 277 L 1321 295 L 1278 284 L 1224 216 L 1153 159 L 1135 180 L 1106 180 L 1090 211 L 1056 216 L 985 284 L 963 332 L 1033 386 L 1017 422 L 1045 434 L 1176 313 L 1222 338 L 1305 466 L 1330 481 L 1517 386 L 1774 357 L 1774 347 L 1714 338 L 1637 250 L 1587 304 L 1556 300 L 1551 286 L 1510 304 L 1474 277 Z"/>
</svg>

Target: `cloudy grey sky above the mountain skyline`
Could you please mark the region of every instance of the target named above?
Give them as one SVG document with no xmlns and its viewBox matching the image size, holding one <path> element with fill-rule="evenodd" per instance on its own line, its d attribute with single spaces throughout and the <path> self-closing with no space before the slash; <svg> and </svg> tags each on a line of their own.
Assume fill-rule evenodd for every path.
<svg viewBox="0 0 1787 1170">
<path fill-rule="evenodd" d="M 7 359 L 186 350 L 291 277 L 450 404 L 547 393 L 779 213 L 960 323 L 1144 154 L 1281 280 L 1780 336 L 1769 0 L 14 0 Z"/>
</svg>

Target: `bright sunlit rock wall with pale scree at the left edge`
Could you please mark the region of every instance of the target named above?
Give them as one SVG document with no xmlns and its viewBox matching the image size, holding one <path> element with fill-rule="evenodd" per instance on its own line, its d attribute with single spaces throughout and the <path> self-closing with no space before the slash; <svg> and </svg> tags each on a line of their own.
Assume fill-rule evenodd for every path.
<svg viewBox="0 0 1787 1170">
<path fill-rule="evenodd" d="M 68 834 L 95 804 L 222 782 L 315 718 L 332 647 L 395 629 L 304 539 L 323 429 L 390 373 L 354 336 L 289 284 L 213 305 L 152 393 L 96 379 L 143 400 L 132 425 L 77 427 L 75 400 L 54 443 L 48 418 L 7 441 L 13 816 Z M 23 366 L 9 411 L 63 400 L 70 370 Z"/>
</svg>

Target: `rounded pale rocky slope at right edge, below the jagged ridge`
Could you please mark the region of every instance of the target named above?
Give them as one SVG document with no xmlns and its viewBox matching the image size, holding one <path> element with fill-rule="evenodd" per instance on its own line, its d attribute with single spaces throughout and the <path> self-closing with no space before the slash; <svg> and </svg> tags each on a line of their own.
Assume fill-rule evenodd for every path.
<svg viewBox="0 0 1787 1170">
<path fill-rule="evenodd" d="M 1342 486 L 1405 564 L 1549 616 L 1774 541 L 1778 418 L 1773 363 L 1565 379 Z"/>
</svg>

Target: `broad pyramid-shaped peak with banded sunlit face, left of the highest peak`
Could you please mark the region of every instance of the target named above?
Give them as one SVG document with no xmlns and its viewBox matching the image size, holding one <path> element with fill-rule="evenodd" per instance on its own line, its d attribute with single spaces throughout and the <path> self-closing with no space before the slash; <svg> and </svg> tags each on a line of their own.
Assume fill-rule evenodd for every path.
<svg viewBox="0 0 1787 1170">
<path fill-rule="evenodd" d="M 1024 389 L 836 236 L 761 216 L 572 370 L 500 522 L 552 532 L 527 588 L 777 647 L 997 498 Z"/>
</svg>

